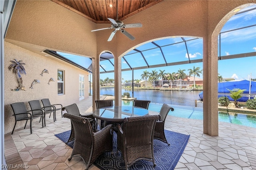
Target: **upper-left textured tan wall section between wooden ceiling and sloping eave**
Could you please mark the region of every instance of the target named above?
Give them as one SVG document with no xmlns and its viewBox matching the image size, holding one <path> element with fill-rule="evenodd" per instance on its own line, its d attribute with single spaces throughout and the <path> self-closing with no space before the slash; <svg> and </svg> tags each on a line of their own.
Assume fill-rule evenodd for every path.
<svg viewBox="0 0 256 170">
<path fill-rule="evenodd" d="M 46 49 L 96 56 L 96 23 L 50 0 L 18 0 L 6 39 Z"/>
</svg>

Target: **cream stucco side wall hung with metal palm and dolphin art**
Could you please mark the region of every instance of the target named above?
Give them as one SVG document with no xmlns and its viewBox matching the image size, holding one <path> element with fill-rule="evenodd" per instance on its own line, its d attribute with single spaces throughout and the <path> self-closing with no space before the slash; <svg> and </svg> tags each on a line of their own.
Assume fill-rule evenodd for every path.
<svg viewBox="0 0 256 170">
<path fill-rule="evenodd" d="M 11 64 L 11 60 L 22 60 L 22 63 L 26 69 L 26 75 L 22 74 L 23 85 L 26 91 L 12 91 L 18 86 L 16 76 L 12 71 L 8 70 L 8 66 Z M 40 74 L 42 70 L 47 69 L 49 74 Z M 65 72 L 65 94 L 58 96 L 57 92 L 57 70 L 62 69 Z M 79 74 L 84 75 L 85 82 L 85 98 L 88 98 L 88 72 L 74 68 L 68 64 L 62 64 L 58 61 L 48 59 L 42 55 L 38 55 L 16 45 L 8 42 L 4 42 L 4 133 L 12 131 L 14 127 L 15 119 L 12 116 L 13 111 L 10 104 L 15 102 L 25 102 L 27 109 L 30 109 L 28 101 L 41 100 L 43 98 L 49 98 L 51 104 L 62 104 L 67 106 L 79 102 Z M 50 78 L 54 78 L 54 82 L 48 81 Z M 31 89 L 30 86 L 34 79 L 40 80 L 40 84 L 34 84 Z M 41 102 L 41 101 L 40 101 Z M 60 111 L 57 114 L 61 114 Z M 46 119 L 49 119 L 46 117 Z M 50 119 L 53 119 L 52 116 Z M 24 127 L 25 121 L 17 123 L 16 128 Z M 47 126 L 47 125 L 46 125 Z"/>
</svg>

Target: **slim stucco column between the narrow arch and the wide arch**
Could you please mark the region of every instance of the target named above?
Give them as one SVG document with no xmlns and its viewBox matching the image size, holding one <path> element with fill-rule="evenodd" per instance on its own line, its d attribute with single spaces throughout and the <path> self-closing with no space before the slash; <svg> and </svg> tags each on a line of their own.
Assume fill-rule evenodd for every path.
<svg viewBox="0 0 256 170">
<path fill-rule="evenodd" d="M 122 105 L 122 57 L 114 59 L 114 80 L 115 80 L 115 106 Z"/>
</svg>

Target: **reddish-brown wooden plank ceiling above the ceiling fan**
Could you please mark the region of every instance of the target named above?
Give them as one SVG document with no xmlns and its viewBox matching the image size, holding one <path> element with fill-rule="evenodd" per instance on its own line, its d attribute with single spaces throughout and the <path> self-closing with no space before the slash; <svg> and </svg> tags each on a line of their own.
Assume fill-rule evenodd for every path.
<svg viewBox="0 0 256 170">
<path fill-rule="evenodd" d="M 163 0 L 52 0 L 95 23 L 110 23 L 108 18 L 124 20 Z M 113 7 L 110 8 L 109 5 Z M 118 5 L 118 8 L 116 8 Z"/>
</svg>

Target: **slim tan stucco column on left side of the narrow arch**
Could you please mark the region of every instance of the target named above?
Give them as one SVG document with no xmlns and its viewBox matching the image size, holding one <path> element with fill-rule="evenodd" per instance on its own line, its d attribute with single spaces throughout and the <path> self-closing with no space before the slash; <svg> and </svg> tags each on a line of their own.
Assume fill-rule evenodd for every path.
<svg viewBox="0 0 256 170">
<path fill-rule="evenodd" d="M 100 100 L 100 59 L 92 58 L 92 110 L 96 109 L 95 100 Z"/>
</svg>

